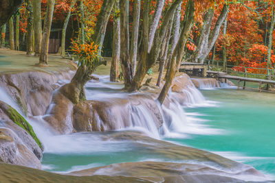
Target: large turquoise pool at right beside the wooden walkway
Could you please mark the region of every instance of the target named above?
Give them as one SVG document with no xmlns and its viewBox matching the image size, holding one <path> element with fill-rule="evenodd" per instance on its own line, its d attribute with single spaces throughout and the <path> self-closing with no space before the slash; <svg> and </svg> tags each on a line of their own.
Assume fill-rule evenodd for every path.
<svg viewBox="0 0 275 183">
<path fill-rule="evenodd" d="M 275 177 L 275 95 L 246 90 L 202 90 L 208 100 L 219 101 L 213 108 L 186 108 L 186 112 L 221 134 L 189 134 L 188 139 L 166 139 L 216 152 L 250 164 Z"/>
</svg>

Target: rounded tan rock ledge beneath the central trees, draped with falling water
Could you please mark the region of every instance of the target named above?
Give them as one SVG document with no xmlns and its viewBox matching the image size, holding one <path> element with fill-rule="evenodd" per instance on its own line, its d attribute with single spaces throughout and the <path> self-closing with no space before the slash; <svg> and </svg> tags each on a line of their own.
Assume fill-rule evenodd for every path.
<svg viewBox="0 0 275 183">
<path fill-rule="evenodd" d="M 184 90 L 188 90 L 188 87 L 194 88 L 188 75 L 177 77 L 172 86 L 173 96 L 166 97 L 164 105 L 169 108 L 170 103 L 175 101 L 184 103 L 186 101 Z M 143 86 L 143 93 L 83 101 L 76 105 L 58 92 L 52 98 L 54 104 L 52 112 L 44 119 L 59 134 L 104 132 L 133 126 L 145 127 L 151 132 L 157 131 L 165 117 L 162 116 L 160 106 L 155 101 L 158 97 L 155 90 L 159 91 L 159 88 Z M 152 123 L 156 129 L 153 129 Z"/>
</svg>

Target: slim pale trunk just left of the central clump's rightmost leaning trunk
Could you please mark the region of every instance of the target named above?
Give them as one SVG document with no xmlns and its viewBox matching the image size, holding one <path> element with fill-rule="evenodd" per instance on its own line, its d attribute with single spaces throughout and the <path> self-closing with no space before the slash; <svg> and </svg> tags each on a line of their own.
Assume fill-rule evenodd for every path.
<svg viewBox="0 0 275 183">
<path fill-rule="evenodd" d="M 175 47 L 177 46 L 177 41 L 179 40 L 180 18 L 181 18 L 181 3 L 177 6 L 177 10 L 175 12 L 175 19 L 173 23 L 173 40 L 171 43 L 171 49 L 170 49 L 169 55 L 167 57 L 168 60 L 166 61 L 167 70 L 166 70 L 166 75 L 164 80 L 166 80 L 166 78 L 168 77 L 172 55 L 175 50 Z"/>
</svg>

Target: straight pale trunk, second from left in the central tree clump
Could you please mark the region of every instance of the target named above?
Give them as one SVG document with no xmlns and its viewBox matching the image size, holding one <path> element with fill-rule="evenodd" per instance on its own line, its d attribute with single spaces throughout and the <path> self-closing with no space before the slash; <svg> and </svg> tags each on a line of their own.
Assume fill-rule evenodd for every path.
<svg viewBox="0 0 275 183">
<path fill-rule="evenodd" d="M 131 51 L 130 51 L 130 62 L 133 65 L 133 75 L 135 75 L 135 69 L 137 67 L 137 44 L 138 44 L 139 25 L 140 25 L 140 0 L 134 0 Z"/>
</svg>

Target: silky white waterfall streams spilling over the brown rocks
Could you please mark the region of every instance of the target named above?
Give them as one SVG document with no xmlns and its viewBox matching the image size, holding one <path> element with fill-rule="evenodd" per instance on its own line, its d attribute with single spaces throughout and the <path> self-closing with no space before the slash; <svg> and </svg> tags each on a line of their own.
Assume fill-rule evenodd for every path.
<svg viewBox="0 0 275 183">
<path fill-rule="evenodd" d="M 113 99 L 128 99 L 128 97 L 134 95 L 124 93 L 121 90 L 123 87 L 122 84 L 109 82 L 108 76 L 97 75 L 97 77 L 100 79 L 99 82 L 88 82 L 85 87 L 87 91 L 87 99 L 112 101 Z M 64 83 L 65 82 L 61 82 L 60 85 Z M 156 119 L 153 118 L 153 114 L 150 112 L 148 106 L 146 107 L 145 103 L 140 101 L 139 103 L 130 104 L 130 116 L 126 118 L 122 118 L 122 115 L 126 114 L 123 113 L 124 108 L 120 108 L 118 106 L 114 112 L 117 112 L 118 110 L 120 113 L 112 114 L 113 120 L 111 121 L 111 123 L 117 123 L 115 125 L 115 130 L 140 130 L 153 138 L 160 138 L 162 136 L 182 138 L 188 137 L 188 134 L 205 134 L 206 132 L 209 132 L 210 134 L 219 133 L 217 131 L 214 132 L 209 127 L 203 125 L 203 121 L 186 115 L 184 107 L 190 108 L 216 105 L 216 103 L 207 101 L 199 90 L 195 88 L 192 82 L 189 83 L 190 84 L 182 90 L 183 95 L 185 95 L 184 106 L 177 101 L 176 95 L 178 94 L 173 93 L 171 90 L 169 92 L 169 106 L 161 106 L 157 101 L 153 101 L 155 103 L 154 105 L 157 106 L 159 110 L 159 115 L 163 119 L 163 123 L 160 128 L 157 125 L 157 121 L 155 121 Z M 8 103 L 25 117 L 25 114 L 21 112 L 18 104 L 2 88 L 0 88 L 0 96 L 0 100 Z M 113 102 L 115 102 L 115 100 L 113 100 Z M 54 106 L 54 103 L 50 104 L 45 116 L 50 115 L 50 111 L 54 110 Z M 73 139 L 72 135 L 61 135 L 63 136 L 62 138 L 60 135 L 57 135 L 49 123 L 44 121 L 43 118 L 45 116 L 25 118 L 30 122 L 37 136 L 44 144 L 46 152 L 58 151 L 55 149 L 60 149 L 59 151 L 62 151 L 61 149 L 64 149 L 67 146 L 67 141 L 78 141 L 77 139 Z M 125 119 L 129 119 L 129 121 L 125 121 Z M 96 116 L 96 120 L 98 121 L 98 123 L 96 123 L 96 125 L 98 125 L 98 129 L 108 130 L 99 116 Z M 75 136 L 77 135 L 73 135 L 74 138 L 76 138 Z"/>
</svg>

